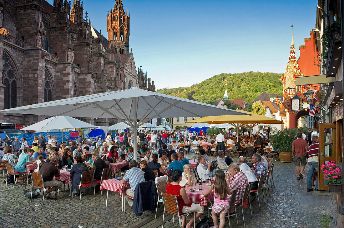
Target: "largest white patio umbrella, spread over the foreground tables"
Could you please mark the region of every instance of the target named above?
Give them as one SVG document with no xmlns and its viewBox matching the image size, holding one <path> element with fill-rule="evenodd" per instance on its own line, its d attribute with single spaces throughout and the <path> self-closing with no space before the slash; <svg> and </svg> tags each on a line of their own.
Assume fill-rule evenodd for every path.
<svg viewBox="0 0 344 228">
<path fill-rule="evenodd" d="M 0 112 L 117 118 L 133 128 L 134 139 L 137 137 L 138 127 L 153 118 L 249 115 L 240 111 L 159 94 L 137 87 L 10 108 Z M 134 121 L 131 122 L 131 120 Z M 136 151 L 136 143 L 134 143 L 134 151 Z"/>
</svg>

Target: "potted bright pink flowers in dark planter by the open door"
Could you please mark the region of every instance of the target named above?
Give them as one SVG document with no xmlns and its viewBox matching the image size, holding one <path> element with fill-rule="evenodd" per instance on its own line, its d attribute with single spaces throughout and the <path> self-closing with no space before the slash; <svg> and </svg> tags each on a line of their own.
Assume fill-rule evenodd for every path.
<svg viewBox="0 0 344 228">
<path fill-rule="evenodd" d="M 324 172 L 325 182 L 329 185 L 329 192 L 341 193 L 341 170 L 335 161 L 322 164 L 321 170 Z"/>
</svg>

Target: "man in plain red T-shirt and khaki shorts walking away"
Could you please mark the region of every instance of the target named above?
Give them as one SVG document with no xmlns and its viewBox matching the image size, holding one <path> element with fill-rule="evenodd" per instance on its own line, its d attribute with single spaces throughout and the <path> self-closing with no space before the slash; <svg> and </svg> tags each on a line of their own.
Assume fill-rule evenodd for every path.
<svg viewBox="0 0 344 228">
<path fill-rule="evenodd" d="M 303 179 L 302 172 L 306 167 L 306 151 L 308 151 L 308 146 L 306 140 L 302 139 L 302 133 L 298 132 L 296 134 L 298 139 L 293 141 L 291 148 L 291 157 L 294 158 L 294 164 L 296 166 L 296 176 L 297 180 Z M 300 170 L 301 163 L 301 170 Z"/>
</svg>

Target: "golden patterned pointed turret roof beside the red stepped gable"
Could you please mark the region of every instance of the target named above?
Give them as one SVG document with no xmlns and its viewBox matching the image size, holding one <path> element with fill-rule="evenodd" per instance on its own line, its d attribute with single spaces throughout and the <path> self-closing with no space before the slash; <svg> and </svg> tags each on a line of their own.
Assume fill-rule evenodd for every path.
<svg viewBox="0 0 344 228">
<path fill-rule="evenodd" d="M 283 91 L 287 88 L 295 88 L 295 77 L 304 76 L 301 72 L 299 65 L 296 61 L 295 56 L 295 46 L 294 46 L 294 34 L 292 34 L 289 61 L 287 64 L 286 72 L 281 77 L 281 82 L 283 83 Z"/>
</svg>

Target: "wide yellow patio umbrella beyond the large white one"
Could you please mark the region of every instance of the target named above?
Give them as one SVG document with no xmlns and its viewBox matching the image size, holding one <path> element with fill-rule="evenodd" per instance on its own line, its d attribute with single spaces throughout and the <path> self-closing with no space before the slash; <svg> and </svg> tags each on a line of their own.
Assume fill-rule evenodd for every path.
<svg viewBox="0 0 344 228">
<path fill-rule="evenodd" d="M 246 125 L 251 129 L 252 133 L 252 128 L 255 127 L 258 124 L 261 123 L 280 123 L 283 124 L 282 121 L 266 117 L 266 116 L 261 116 L 256 113 L 248 112 L 248 111 L 243 111 L 240 109 L 236 109 L 236 111 L 243 112 L 243 114 L 250 114 L 250 115 L 225 115 L 225 116 L 206 116 L 200 119 L 195 119 L 191 121 L 187 121 L 187 123 L 229 123 L 232 124 L 234 127 L 237 129 L 237 140 L 239 139 L 239 128 L 242 127 L 243 125 Z"/>
</svg>

